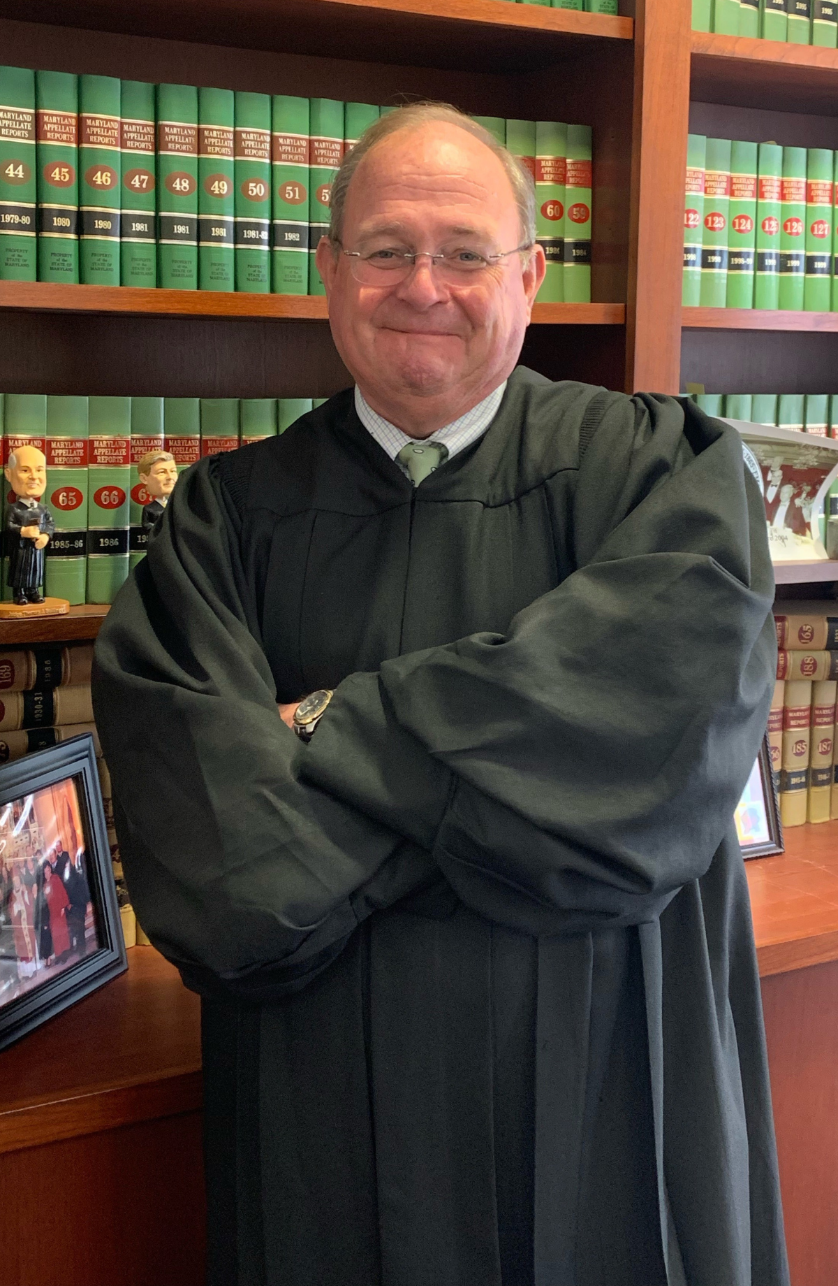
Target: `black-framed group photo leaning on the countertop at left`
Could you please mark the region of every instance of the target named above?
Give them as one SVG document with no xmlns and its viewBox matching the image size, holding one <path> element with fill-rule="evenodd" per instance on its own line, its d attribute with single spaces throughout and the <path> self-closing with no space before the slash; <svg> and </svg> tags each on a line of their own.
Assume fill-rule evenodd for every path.
<svg viewBox="0 0 838 1286">
<path fill-rule="evenodd" d="M 0 1049 L 126 968 L 85 733 L 0 768 Z"/>
</svg>

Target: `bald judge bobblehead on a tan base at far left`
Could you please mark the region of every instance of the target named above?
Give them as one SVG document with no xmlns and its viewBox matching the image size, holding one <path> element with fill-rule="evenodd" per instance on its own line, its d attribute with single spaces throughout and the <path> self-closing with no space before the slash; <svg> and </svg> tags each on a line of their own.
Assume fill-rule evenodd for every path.
<svg viewBox="0 0 838 1286">
<path fill-rule="evenodd" d="M 46 490 L 46 458 L 36 446 L 18 446 L 3 472 L 14 493 L 14 503 L 9 504 L 5 517 L 13 604 L 0 604 L 0 615 L 62 615 L 69 610 L 67 599 L 45 599 L 41 592 L 44 550 L 55 531 L 53 514 L 41 504 Z"/>
</svg>

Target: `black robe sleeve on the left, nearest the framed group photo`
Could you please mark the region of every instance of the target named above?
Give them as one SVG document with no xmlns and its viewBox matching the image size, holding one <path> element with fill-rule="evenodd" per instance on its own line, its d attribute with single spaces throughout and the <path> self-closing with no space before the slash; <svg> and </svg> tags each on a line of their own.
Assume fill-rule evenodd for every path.
<svg viewBox="0 0 838 1286">
<path fill-rule="evenodd" d="M 213 468 L 180 480 L 108 615 L 94 709 L 143 927 L 195 990 L 258 1001 L 302 985 L 371 909 L 436 868 L 296 779 L 299 742 L 276 711 Z"/>
</svg>

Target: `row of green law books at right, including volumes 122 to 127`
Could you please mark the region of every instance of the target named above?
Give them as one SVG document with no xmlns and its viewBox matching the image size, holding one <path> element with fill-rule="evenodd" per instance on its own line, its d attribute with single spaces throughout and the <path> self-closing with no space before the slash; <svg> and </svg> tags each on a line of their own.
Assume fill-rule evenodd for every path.
<svg viewBox="0 0 838 1286">
<path fill-rule="evenodd" d="M 838 156 L 690 134 L 688 306 L 838 311 Z"/>
</svg>

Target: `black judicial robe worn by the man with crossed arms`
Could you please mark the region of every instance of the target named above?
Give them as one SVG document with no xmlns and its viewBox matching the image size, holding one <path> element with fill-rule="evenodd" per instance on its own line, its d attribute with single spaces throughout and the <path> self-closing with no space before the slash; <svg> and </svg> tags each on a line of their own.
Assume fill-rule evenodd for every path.
<svg viewBox="0 0 838 1286">
<path fill-rule="evenodd" d="M 735 431 L 523 368 L 416 490 L 350 392 L 180 480 L 94 700 L 203 997 L 212 1286 L 787 1286 L 771 598 Z"/>
</svg>

